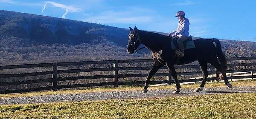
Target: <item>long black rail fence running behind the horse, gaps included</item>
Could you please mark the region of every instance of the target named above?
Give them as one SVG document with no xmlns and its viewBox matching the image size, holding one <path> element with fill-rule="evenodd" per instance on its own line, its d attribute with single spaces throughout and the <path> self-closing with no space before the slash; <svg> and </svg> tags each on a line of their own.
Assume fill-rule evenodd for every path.
<svg viewBox="0 0 256 119">
<path fill-rule="evenodd" d="M 231 77 L 228 77 L 228 79 L 256 78 L 256 75 L 253 75 L 256 72 L 256 57 L 227 58 L 227 61 L 227 73 L 231 73 Z M 143 85 L 145 83 L 145 77 L 148 74 L 147 71 L 151 70 L 152 65 L 152 59 L 131 59 L 0 66 L 0 94 L 43 90 L 57 91 L 63 88 Z M 212 65 L 208 65 L 208 67 L 211 76 L 208 77 L 208 80 L 218 80 L 219 72 Z M 180 82 L 198 82 L 202 80 L 202 78 L 180 79 L 182 78 L 181 76 L 186 75 L 194 77 L 201 75 L 199 65 L 175 65 L 175 69 L 176 71 L 179 70 L 177 71 L 177 75 L 179 76 Z M 157 72 L 154 77 L 166 78 L 162 80 L 152 79 L 150 84 L 167 83 L 170 85 L 174 83 L 166 66 L 160 70 L 163 71 Z M 249 72 L 251 75 L 236 76 L 232 74 L 234 72 L 241 72 L 240 74 L 248 74 Z M 143 80 L 137 80 L 142 77 Z M 129 80 L 129 78 L 135 79 Z M 93 79 L 108 80 L 90 82 Z M 72 84 L 76 81 L 79 83 Z M 37 87 L 28 85 L 37 85 Z M 12 89 L 10 89 L 11 87 Z"/>
</svg>

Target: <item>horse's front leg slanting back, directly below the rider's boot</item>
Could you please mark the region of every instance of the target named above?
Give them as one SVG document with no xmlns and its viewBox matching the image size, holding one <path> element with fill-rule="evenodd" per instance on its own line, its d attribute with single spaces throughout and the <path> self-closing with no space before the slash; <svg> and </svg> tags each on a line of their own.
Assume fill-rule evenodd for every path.
<svg viewBox="0 0 256 119">
<path fill-rule="evenodd" d="M 169 71 L 171 72 L 172 77 L 173 77 L 173 79 L 175 80 L 175 83 L 176 83 L 175 91 L 173 91 L 172 94 L 178 94 L 180 92 L 181 87 L 180 87 L 180 82 L 178 82 L 178 78 L 177 78 L 177 74 L 176 74 L 174 65 L 172 63 L 169 63 L 169 62 L 166 62 L 166 65 L 167 65 Z"/>
</svg>

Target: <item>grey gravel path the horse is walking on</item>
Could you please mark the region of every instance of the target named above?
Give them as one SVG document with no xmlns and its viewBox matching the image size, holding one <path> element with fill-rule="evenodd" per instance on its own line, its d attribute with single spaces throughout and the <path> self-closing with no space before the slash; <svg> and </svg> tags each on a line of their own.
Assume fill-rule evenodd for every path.
<svg viewBox="0 0 256 119">
<path fill-rule="evenodd" d="M 200 93 L 192 93 L 194 89 L 180 89 L 180 94 L 172 94 L 173 89 L 150 90 L 141 94 L 141 91 L 113 91 L 94 92 L 82 94 L 53 94 L 44 96 L 26 96 L 0 99 L 0 105 L 30 104 L 47 102 L 79 102 L 85 100 L 106 100 L 106 99 L 134 99 L 134 98 L 160 98 L 167 96 L 195 96 L 209 94 L 230 94 L 230 93 L 256 93 L 256 86 L 239 86 L 230 90 L 226 87 L 204 88 Z"/>
</svg>

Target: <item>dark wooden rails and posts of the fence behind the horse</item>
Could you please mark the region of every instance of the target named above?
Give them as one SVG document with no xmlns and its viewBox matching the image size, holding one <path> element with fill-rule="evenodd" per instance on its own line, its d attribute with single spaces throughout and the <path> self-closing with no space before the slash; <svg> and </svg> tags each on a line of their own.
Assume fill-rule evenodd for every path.
<svg viewBox="0 0 256 119">
<path fill-rule="evenodd" d="M 248 72 L 251 71 L 252 75 L 250 76 L 234 76 L 231 74 L 231 77 L 228 79 L 244 79 L 251 78 L 255 79 L 256 75 L 253 73 L 256 72 L 256 57 L 242 57 L 242 58 L 227 58 L 227 61 L 237 61 L 238 63 L 228 63 L 228 67 L 248 67 L 245 69 L 232 69 L 228 70 L 227 73 L 233 72 Z M 250 62 L 244 62 L 250 61 Z M 145 62 L 153 62 L 152 59 L 131 59 L 131 60 L 106 60 L 106 61 L 84 61 L 84 62 L 55 62 L 55 63 L 41 63 L 41 64 L 26 64 L 26 65 L 6 65 L 0 66 L 0 87 L 9 87 L 13 85 L 26 85 L 26 84 L 37 84 L 37 83 L 50 83 L 48 86 L 36 87 L 36 88 L 21 88 L 21 89 L 8 89 L 8 90 L 0 90 L 0 94 L 9 94 L 9 93 L 20 93 L 20 92 L 29 92 L 29 91 L 44 91 L 44 90 L 52 90 L 57 91 L 62 88 L 80 88 L 80 87 L 94 87 L 94 86 L 114 86 L 118 87 L 118 85 L 143 85 L 145 82 L 145 77 L 147 73 L 144 74 L 119 74 L 119 71 L 138 71 L 138 70 L 150 70 L 152 66 L 120 66 L 121 63 L 145 63 Z M 244 62 L 244 63 L 242 63 Z M 99 65 L 99 64 L 111 64 L 110 67 L 105 68 L 79 68 L 79 69 L 59 69 L 60 67 L 69 67 L 76 65 Z M 21 69 L 22 71 L 26 71 L 26 68 L 39 68 L 39 67 L 48 67 L 51 68 L 49 71 L 37 71 L 37 72 L 29 72 L 29 73 L 3 73 L 4 71 L 8 72 L 8 70 L 17 70 Z M 211 65 L 208 65 L 209 68 L 213 68 Z M 254 67 L 254 68 L 253 68 Z M 199 65 L 175 65 L 176 69 L 188 69 L 188 68 L 200 68 Z M 168 70 L 165 66 L 161 69 Z M 101 71 L 111 71 L 113 74 L 110 75 L 93 75 L 93 76 L 67 76 L 60 77 L 60 74 L 70 74 L 70 73 L 83 73 L 83 72 L 101 72 Z M 2 73 L 1 73 L 2 72 Z M 201 71 L 190 71 L 190 72 L 177 72 L 178 76 L 181 75 L 195 75 L 202 74 Z M 208 78 L 208 80 L 218 80 L 216 78 L 219 76 L 218 71 L 209 71 L 209 74 L 212 77 Z M 19 78 L 19 77 L 33 77 L 47 75 L 50 76 L 48 78 L 43 79 L 26 79 L 26 80 L 16 80 L 9 81 L 9 78 Z M 215 77 L 213 77 L 215 75 Z M 144 77 L 143 81 L 119 81 L 119 78 L 134 78 L 134 77 Z M 150 84 L 159 84 L 159 83 L 174 83 L 172 76 L 169 71 L 166 73 L 156 73 L 154 77 L 167 77 L 164 80 L 152 81 Z M 73 81 L 73 80 L 81 80 L 81 79 L 101 79 L 101 78 L 111 78 L 111 82 L 96 82 L 96 83 L 79 83 L 79 84 L 66 84 L 66 85 L 58 85 L 57 82 L 61 81 Z M 198 79 L 180 79 L 180 82 L 198 82 L 201 81 L 202 78 Z"/>
</svg>

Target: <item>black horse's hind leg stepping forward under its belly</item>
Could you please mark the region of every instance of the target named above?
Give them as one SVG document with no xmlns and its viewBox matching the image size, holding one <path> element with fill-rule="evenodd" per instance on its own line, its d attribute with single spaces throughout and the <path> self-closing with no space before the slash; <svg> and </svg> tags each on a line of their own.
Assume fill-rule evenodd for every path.
<svg viewBox="0 0 256 119">
<path fill-rule="evenodd" d="M 208 71 L 207 71 L 207 62 L 203 62 L 203 61 L 198 61 L 199 64 L 200 64 L 200 67 L 201 67 L 201 71 L 203 73 L 203 80 L 201 82 L 201 85 L 200 87 L 198 88 L 195 88 L 195 90 L 193 91 L 194 93 L 195 92 L 199 92 L 199 91 L 202 91 L 204 89 L 204 85 L 205 85 L 205 82 L 207 80 L 207 77 L 209 75 Z"/>
</svg>

